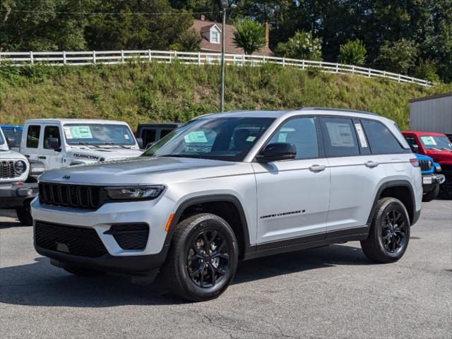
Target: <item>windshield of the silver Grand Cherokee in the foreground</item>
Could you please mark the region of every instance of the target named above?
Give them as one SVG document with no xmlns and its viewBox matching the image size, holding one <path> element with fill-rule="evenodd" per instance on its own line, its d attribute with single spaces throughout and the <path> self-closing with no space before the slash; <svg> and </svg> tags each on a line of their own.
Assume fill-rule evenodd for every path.
<svg viewBox="0 0 452 339">
<path fill-rule="evenodd" d="M 190 121 L 155 143 L 143 156 L 242 161 L 273 118 L 204 118 Z"/>
</svg>

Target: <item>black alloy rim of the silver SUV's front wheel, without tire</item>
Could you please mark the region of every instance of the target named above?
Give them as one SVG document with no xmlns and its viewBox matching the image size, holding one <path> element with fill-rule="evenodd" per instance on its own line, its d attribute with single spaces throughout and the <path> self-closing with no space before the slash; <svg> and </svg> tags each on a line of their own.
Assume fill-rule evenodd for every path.
<svg viewBox="0 0 452 339">
<path fill-rule="evenodd" d="M 186 257 L 191 280 L 199 287 L 220 283 L 230 266 L 230 249 L 223 234 L 203 230 L 194 237 Z"/>
</svg>

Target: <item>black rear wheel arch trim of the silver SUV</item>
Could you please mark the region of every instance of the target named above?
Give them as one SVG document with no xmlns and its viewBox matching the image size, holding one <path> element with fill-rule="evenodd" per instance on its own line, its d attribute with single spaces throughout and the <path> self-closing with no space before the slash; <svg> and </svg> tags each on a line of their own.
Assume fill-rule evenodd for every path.
<svg viewBox="0 0 452 339">
<path fill-rule="evenodd" d="M 412 184 L 408 180 L 403 179 L 383 182 L 383 184 L 379 186 L 379 189 L 377 190 L 376 196 L 374 198 L 374 203 L 372 204 L 372 208 L 369 213 L 369 218 L 367 218 L 367 225 L 370 225 L 372 218 L 374 218 L 376 203 L 378 203 L 380 198 L 388 196 L 398 198 L 400 201 L 402 201 L 403 205 L 408 211 L 410 224 L 414 225 L 417 222 L 417 219 L 419 219 L 419 215 L 416 212 L 415 192 L 412 189 Z"/>
</svg>

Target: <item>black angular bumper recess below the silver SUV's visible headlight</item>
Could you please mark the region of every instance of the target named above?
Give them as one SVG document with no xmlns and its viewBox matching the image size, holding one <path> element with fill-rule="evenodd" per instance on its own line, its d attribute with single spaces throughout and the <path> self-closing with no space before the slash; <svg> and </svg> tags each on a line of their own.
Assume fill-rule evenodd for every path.
<svg viewBox="0 0 452 339">
<path fill-rule="evenodd" d="M 144 249 L 149 227 L 145 224 L 113 225 L 105 234 L 112 234 L 121 249 Z"/>
</svg>

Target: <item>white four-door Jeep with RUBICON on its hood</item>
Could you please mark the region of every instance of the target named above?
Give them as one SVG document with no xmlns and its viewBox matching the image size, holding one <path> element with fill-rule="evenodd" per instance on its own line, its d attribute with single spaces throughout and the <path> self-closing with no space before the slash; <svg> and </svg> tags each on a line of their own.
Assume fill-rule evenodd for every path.
<svg viewBox="0 0 452 339">
<path fill-rule="evenodd" d="M 25 121 L 20 153 L 48 170 L 138 157 L 138 141 L 122 121 L 31 119 Z"/>
</svg>

